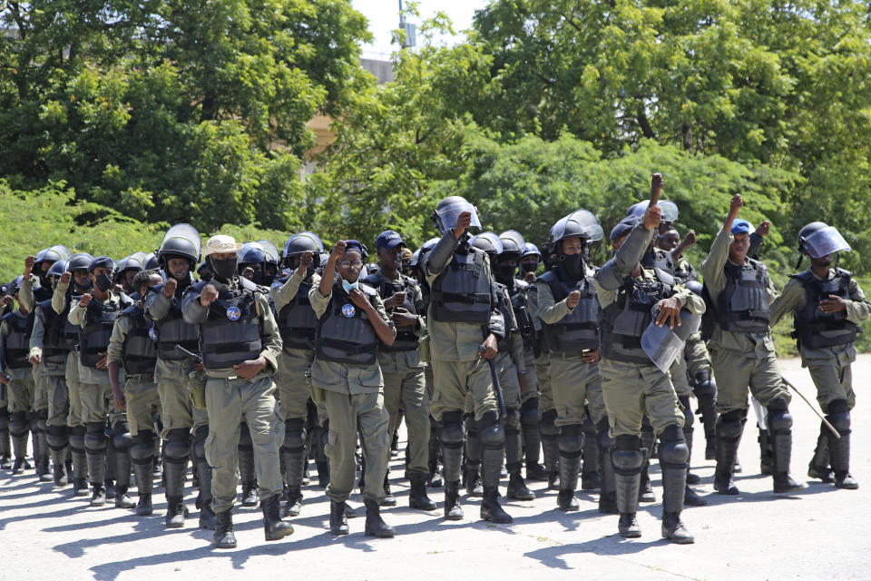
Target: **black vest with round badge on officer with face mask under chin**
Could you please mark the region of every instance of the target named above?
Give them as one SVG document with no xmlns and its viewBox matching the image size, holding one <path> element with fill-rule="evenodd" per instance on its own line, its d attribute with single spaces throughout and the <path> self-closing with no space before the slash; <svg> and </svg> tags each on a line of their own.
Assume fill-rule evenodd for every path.
<svg viewBox="0 0 871 581">
<path fill-rule="evenodd" d="M 361 283 L 359 290 L 371 302 L 377 291 Z M 367 314 L 359 309 L 340 284 L 333 285 L 327 310 L 318 320 L 315 333 L 318 359 L 350 365 L 374 365 L 378 357 L 378 338 Z"/>
</svg>

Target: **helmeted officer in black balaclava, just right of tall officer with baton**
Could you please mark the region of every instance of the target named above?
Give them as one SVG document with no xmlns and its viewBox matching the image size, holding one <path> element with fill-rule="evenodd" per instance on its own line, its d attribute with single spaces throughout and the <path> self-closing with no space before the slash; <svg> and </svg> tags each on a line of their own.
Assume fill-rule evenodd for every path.
<svg viewBox="0 0 871 581">
<path fill-rule="evenodd" d="M 536 281 L 539 317 L 542 319 L 544 349 L 549 354 L 553 403 L 560 428 L 560 493 L 557 507 L 577 510 L 574 497 L 584 448 L 584 422 L 603 430 L 607 424 L 599 372 L 599 302 L 593 284 L 595 268 L 584 260 L 589 241 L 602 240 L 602 226 L 592 213 L 579 210 L 554 224 L 551 244 L 556 251 L 556 266 Z M 595 442 L 597 433 L 588 436 Z M 602 438 L 602 450 L 609 442 Z M 586 448 L 583 463 L 598 456 L 597 448 Z M 607 469 L 607 468 L 606 468 Z M 611 479 L 603 485 L 601 503 L 612 492 Z"/>
</svg>

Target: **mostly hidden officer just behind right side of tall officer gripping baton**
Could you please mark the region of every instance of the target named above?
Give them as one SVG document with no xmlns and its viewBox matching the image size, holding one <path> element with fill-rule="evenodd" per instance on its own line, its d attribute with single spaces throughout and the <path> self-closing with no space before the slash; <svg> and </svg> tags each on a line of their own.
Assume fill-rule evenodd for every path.
<svg viewBox="0 0 871 581">
<path fill-rule="evenodd" d="M 515 234 L 520 236 L 519 232 Z M 504 252 L 502 239 L 494 232 L 483 232 L 475 236 L 472 245 L 486 252 L 490 263 L 496 265 L 498 271 L 499 256 Z M 499 310 L 505 321 L 504 336 L 496 341 L 497 353 L 493 359 L 505 406 L 502 417 L 505 432 L 505 468 L 508 471 L 508 488 L 505 496 L 516 500 L 533 500 L 535 495 L 526 487 L 521 475 L 524 452 L 520 436 L 520 408 L 521 398 L 529 390 L 526 382 L 524 339 L 520 332 L 520 325 L 514 316 L 514 305 L 507 287 L 500 282 L 494 282 L 494 287 L 496 298 L 499 300 Z M 475 436 L 475 439 L 480 438 L 480 433 Z M 473 438 L 468 437 L 467 441 L 471 442 Z M 480 461 L 480 452 L 477 459 Z"/>
</svg>

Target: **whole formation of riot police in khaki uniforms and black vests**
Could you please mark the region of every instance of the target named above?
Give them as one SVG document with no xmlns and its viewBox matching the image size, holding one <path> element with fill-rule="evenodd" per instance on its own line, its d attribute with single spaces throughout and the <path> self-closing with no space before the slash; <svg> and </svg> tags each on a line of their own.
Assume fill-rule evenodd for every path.
<svg viewBox="0 0 871 581">
<path fill-rule="evenodd" d="M 189 224 L 118 261 L 38 251 L 0 287 L 0 469 L 33 469 L 91 506 L 113 499 L 140 516 L 163 487 L 166 527 L 183 527 L 192 468 L 198 524 L 219 548 L 237 546 L 239 485 L 268 541 L 293 532 L 286 519 L 318 488 L 329 531 L 349 533 L 359 472 L 365 533 L 393 537 L 381 509 L 396 504 L 390 441 L 405 422 L 405 468 L 392 479 L 408 481 L 409 507 L 435 510 L 427 488 L 444 487 L 442 516 L 462 519 L 465 487 L 483 497 L 481 518 L 510 524 L 504 468 L 505 497 L 553 495 L 577 511 L 577 489 L 598 490 L 599 512 L 640 537 L 658 458 L 662 537 L 692 543 L 683 507 L 707 504 L 690 487 L 696 413 L 714 492 L 739 493 L 748 390 L 763 473 L 775 493 L 801 489 L 770 332 L 791 313 L 825 416 L 808 475 L 858 487 L 851 363 L 871 301 L 837 265 L 847 241 L 807 224 L 798 265 L 810 265 L 778 294 L 757 253 L 770 225 L 739 219 L 739 195 L 697 270 L 686 256 L 695 231 L 681 238 L 658 174 L 652 186 L 613 227 L 601 268 L 593 209 L 563 216 L 538 247 L 520 231 L 481 231 L 460 196 L 437 205 L 439 237 L 415 251 L 383 231 L 369 268 L 360 241 L 327 251 L 300 231 L 280 251 L 220 234 L 203 246 Z M 318 476 L 307 487 L 310 458 Z M 547 485 L 533 492 L 531 481 Z"/>
</svg>

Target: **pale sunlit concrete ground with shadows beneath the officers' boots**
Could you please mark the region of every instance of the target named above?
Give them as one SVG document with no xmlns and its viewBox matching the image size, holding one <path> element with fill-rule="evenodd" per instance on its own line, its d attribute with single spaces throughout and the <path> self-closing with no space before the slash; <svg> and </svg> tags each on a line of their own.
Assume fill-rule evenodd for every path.
<svg viewBox="0 0 871 581">
<path fill-rule="evenodd" d="M 815 390 L 798 359 L 781 361 L 785 376 L 807 397 Z M 364 508 L 351 498 L 360 517 L 349 521 L 351 534 L 328 534 L 328 502 L 322 491 L 306 487 L 305 506 L 292 519 L 296 531 L 282 541 L 266 543 L 259 508 L 237 507 L 234 517 L 240 548 L 210 547 L 211 531 L 196 527 L 193 495 L 191 518 L 182 529 L 163 527 L 165 502 L 156 490 L 154 515 L 107 506 L 88 507 L 87 498 L 71 497 L 71 488 L 55 490 L 38 484 L 32 471 L 11 477 L 0 473 L 0 547 L 4 566 L 0 579 L 215 579 L 233 573 L 248 578 L 308 576 L 318 579 L 449 578 L 585 578 L 611 579 L 868 579 L 871 542 L 863 532 L 871 504 L 871 407 L 864 399 L 864 378 L 871 375 L 871 356 L 860 357 L 853 377 L 859 404 L 853 415 L 852 473 L 858 490 L 838 490 L 808 481 L 807 462 L 817 439 L 819 421 L 798 397 L 790 409 L 795 418 L 792 474 L 807 487 L 797 494 L 775 496 L 771 478 L 758 474 L 757 430 L 748 423 L 740 448 L 744 467 L 738 475 L 739 497 L 712 494 L 713 462 L 700 458 L 700 429 L 692 469 L 702 478 L 696 489 L 708 507 L 688 508 L 684 521 L 696 543 L 671 545 L 660 537 L 661 504 L 642 505 L 643 536 L 625 540 L 616 534 L 617 517 L 596 510 L 596 494 L 578 493 L 581 510 L 556 509 L 556 493 L 545 483 L 529 483 L 532 502 L 510 501 L 514 524 L 494 526 L 477 519 L 480 499 L 464 498 L 466 519 L 441 518 L 443 489 L 430 489 L 439 510 L 421 513 L 407 505 L 402 468 L 393 462 L 397 507 L 383 510 L 396 527 L 394 539 L 363 535 Z M 752 416 L 752 412 L 751 412 Z M 651 478 L 661 497 L 659 468 Z M 503 487 L 504 490 L 504 487 Z M 544 577 L 546 576 L 546 577 Z"/>
</svg>

